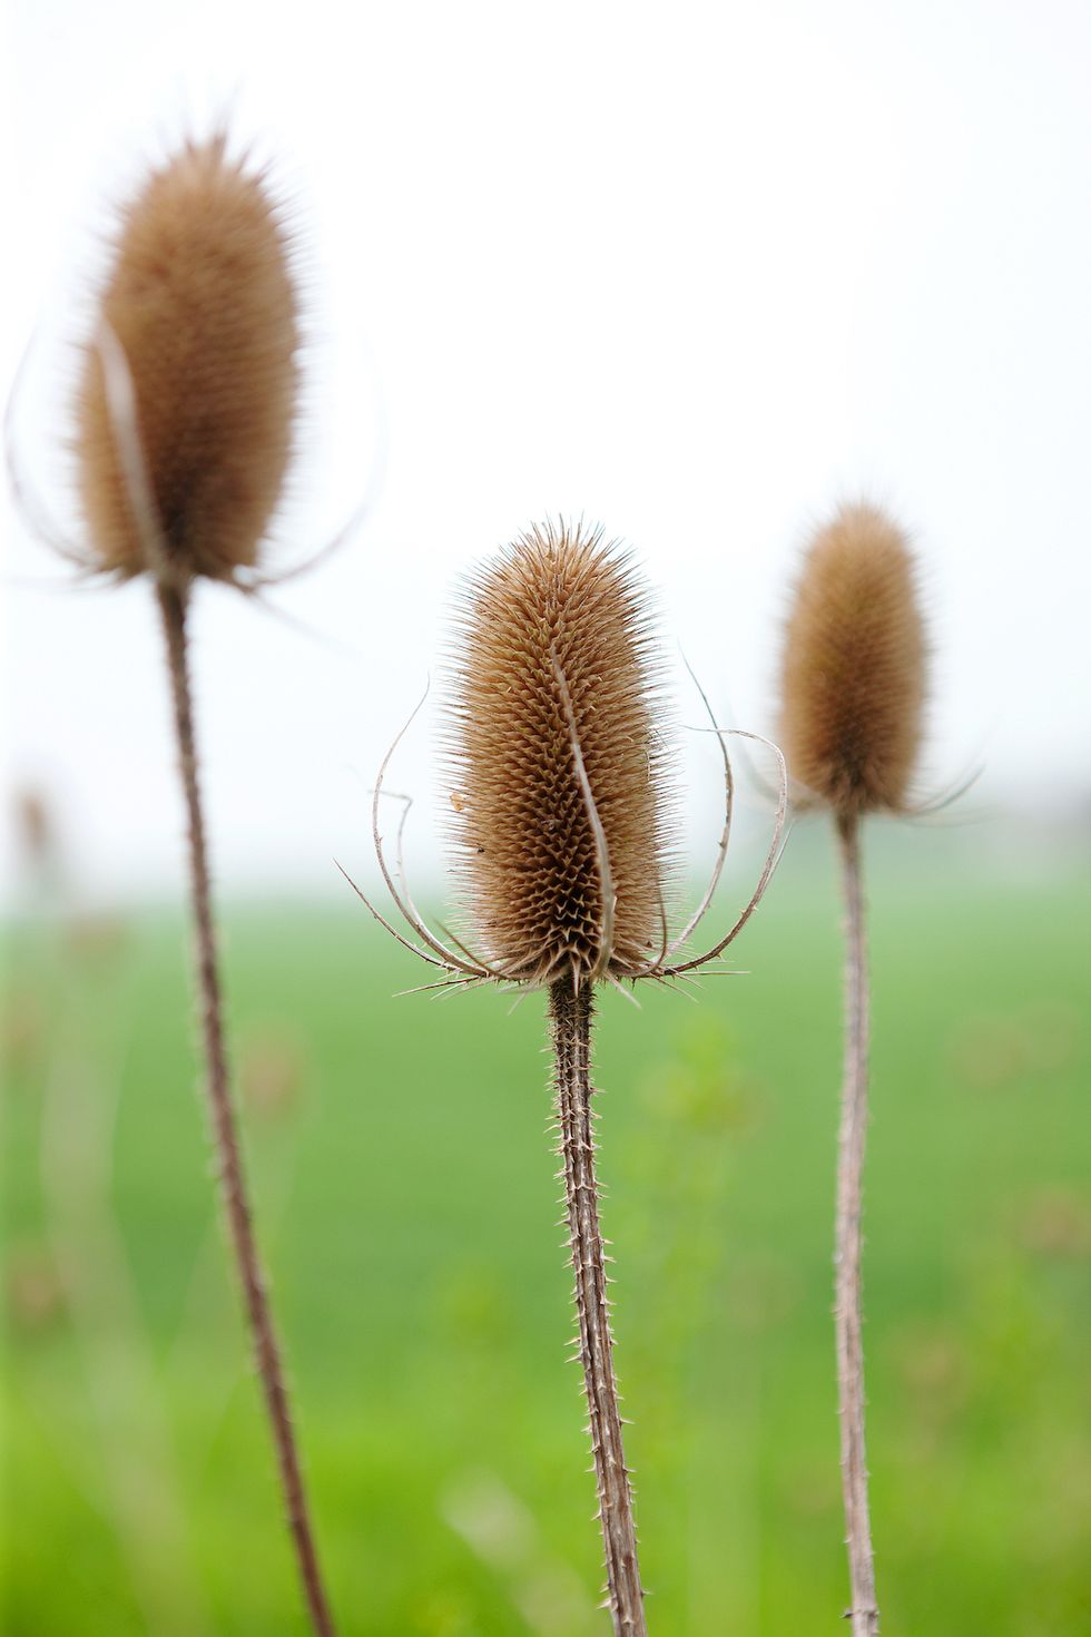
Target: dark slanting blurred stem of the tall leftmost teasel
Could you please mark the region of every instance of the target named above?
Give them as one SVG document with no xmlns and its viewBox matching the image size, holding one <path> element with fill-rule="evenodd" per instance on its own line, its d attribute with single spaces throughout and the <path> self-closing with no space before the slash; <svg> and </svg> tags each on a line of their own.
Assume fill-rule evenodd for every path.
<svg viewBox="0 0 1091 1637">
<path fill-rule="evenodd" d="M 160 584 L 159 606 L 167 637 L 170 688 L 173 696 L 175 730 L 178 735 L 178 763 L 185 791 L 190 832 L 190 876 L 193 891 L 193 920 L 196 930 L 196 979 L 201 995 L 201 1025 L 204 1038 L 204 1071 L 208 1100 L 213 1116 L 213 1134 L 219 1162 L 222 1202 L 231 1231 L 231 1244 L 242 1282 L 247 1321 L 254 1342 L 258 1375 L 265 1395 L 280 1483 L 288 1509 L 288 1526 L 296 1549 L 299 1576 L 306 1596 L 311 1624 L 317 1637 L 334 1637 L 334 1621 L 329 1611 L 322 1575 L 319 1570 L 314 1529 L 308 1508 L 296 1436 L 288 1408 L 288 1388 L 273 1328 L 273 1315 L 265 1290 L 265 1277 L 254 1238 L 254 1220 L 247 1197 L 239 1130 L 231 1098 L 227 1053 L 224 1046 L 224 1005 L 216 956 L 216 927 L 208 879 L 208 851 L 204 845 L 204 818 L 198 782 L 198 761 L 193 737 L 193 697 L 190 689 L 190 661 L 186 643 L 185 589 Z"/>
</svg>

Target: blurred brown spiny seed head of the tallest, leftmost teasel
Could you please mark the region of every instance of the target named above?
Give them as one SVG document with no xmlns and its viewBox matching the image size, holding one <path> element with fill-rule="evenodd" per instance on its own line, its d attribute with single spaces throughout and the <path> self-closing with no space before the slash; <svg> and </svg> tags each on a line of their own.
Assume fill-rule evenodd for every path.
<svg viewBox="0 0 1091 1637">
<path fill-rule="evenodd" d="M 291 453 L 298 301 L 285 228 L 226 138 L 186 144 L 123 213 L 101 293 L 136 398 L 159 534 L 185 575 L 257 561 Z M 101 570 L 149 563 L 123 475 L 101 347 L 77 395 L 83 517 Z"/>
</svg>

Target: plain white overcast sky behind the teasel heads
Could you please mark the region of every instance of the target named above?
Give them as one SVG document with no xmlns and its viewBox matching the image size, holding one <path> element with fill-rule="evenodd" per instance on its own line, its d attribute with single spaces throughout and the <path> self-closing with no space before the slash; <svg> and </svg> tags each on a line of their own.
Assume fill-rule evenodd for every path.
<svg viewBox="0 0 1091 1637">
<path fill-rule="evenodd" d="M 324 337 L 299 552 L 386 442 L 368 525 L 276 593 L 321 642 L 200 598 L 221 884 L 334 889 L 334 853 L 368 874 L 371 773 L 451 584 L 546 511 L 626 537 L 721 714 L 769 728 L 808 522 L 887 499 L 937 643 L 926 782 L 983 755 L 993 799 L 1086 799 L 1086 0 L 8 0 L 8 36 L 0 370 L 38 326 L 16 435 L 54 514 L 95 236 L 224 106 L 299 201 Z M 92 894 L 170 886 L 149 599 L 15 583 L 57 570 L 3 504 L 8 779 L 61 804 Z M 433 787 L 424 719 L 393 782 Z M 702 837 L 715 799 L 708 768 Z M 424 810 L 414 850 L 427 874 Z"/>
</svg>

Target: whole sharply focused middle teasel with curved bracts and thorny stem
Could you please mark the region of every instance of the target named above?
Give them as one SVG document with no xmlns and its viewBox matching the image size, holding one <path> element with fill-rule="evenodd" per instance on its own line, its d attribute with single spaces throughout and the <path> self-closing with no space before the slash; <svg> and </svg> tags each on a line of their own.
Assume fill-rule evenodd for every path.
<svg viewBox="0 0 1091 1637">
<path fill-rule="evenodd" d="M 415 910 L 401 866 L 401 828 L 394 873 L 386 861 L 379 800 L 389 755 L 373 805 L 379 868 L 414 938 L 402 938 L 365 902 L 399 941 L 447 974 L 425 987 L 501 982 L 548 994 L 576 1346 L 608 1608 L 615 1632 L 626 1637 L 646 1624 L 595 1177 L 594 985 L 682 981 L 715 959 L 757 907 L 782 841 L 783 763 L 775 835 L 749 904 L 718 945 L 679 958 L 712 900 L 728 846 L 733 779 L 723 735 L 720 745 L 726 818 L 716 864 L 697 912 L 671 938 L 674 750 L 649 596 L 628 555 L 599 530 L 546 524 L 469 581 L 456 627 L 443 766 L 461 936 L 440 938 Z M 471 953 L 473 945 L 481 954 Z"/>
</svg>

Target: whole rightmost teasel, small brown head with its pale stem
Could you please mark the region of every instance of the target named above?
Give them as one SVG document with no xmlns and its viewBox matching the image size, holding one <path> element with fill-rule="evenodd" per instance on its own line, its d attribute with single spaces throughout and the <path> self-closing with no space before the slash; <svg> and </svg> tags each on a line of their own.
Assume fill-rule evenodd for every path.
<svg viewBox="0 0 1091 1637">
<path fill-rule="evenodd" d="M 841 1473 L 852 1637 L 878 1630 L 864 1437 L 862 1175 L 869 1097 L 869 969 L 860 825 L 911 810 L 926 638 L 903 530 L 842 506 L 811 540 L 783 640 L 780 738 L 803 805 L 829 810 L 846 900 L 846 1038 L 834 1228 Z"/>
</svg>

